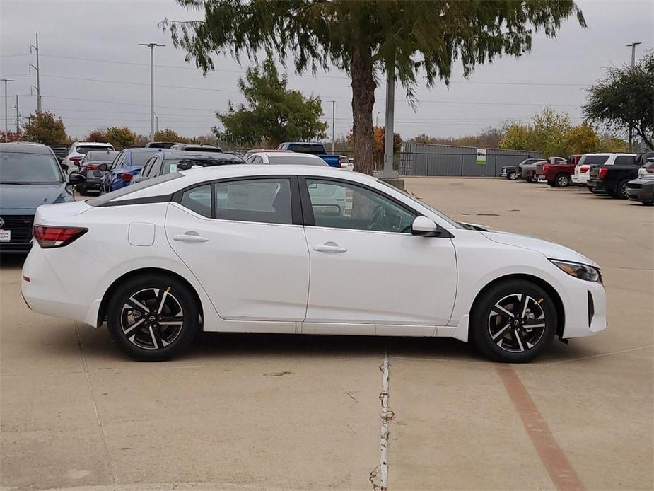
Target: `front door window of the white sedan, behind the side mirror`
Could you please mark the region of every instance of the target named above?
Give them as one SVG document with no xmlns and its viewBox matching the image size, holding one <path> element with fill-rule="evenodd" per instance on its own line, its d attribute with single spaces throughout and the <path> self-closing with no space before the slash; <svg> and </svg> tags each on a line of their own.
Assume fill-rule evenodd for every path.
<svg viewBox="0 0 654 491">
<path fill-rule="evenodd" d="M 378 192 L 351 183 L 307 179 L 316 226 L 411 233 L 416 214 Z"/>
</svg>

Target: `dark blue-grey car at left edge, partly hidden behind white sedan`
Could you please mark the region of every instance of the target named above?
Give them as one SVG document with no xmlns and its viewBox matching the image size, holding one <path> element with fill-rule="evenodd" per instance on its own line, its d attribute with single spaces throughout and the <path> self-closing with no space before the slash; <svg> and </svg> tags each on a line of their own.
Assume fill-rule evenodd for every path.
<svg viewBox="0 0 654 491">
<path fill-rule="evenodd" d="M 27 253 L 37 207 L 74 201 L 72 185 L 83 180 L 66 177 L 49 146 L 0 143 L 0 253 Z"/>
</svg>

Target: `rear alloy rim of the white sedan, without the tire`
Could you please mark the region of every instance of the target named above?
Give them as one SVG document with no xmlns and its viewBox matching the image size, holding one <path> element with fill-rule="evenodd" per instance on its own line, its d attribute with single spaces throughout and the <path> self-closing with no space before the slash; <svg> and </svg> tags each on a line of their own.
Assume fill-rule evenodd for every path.
<svg viewBox="0 0 654 491">
<path fill-rule="evenodd" d="M 143 350 L 159 350 L 174 342 L 184 327 L 180 301 L 170 287 L 137 291 L 125 302 L 120 316 L 123 335 Z"/>
</svg>

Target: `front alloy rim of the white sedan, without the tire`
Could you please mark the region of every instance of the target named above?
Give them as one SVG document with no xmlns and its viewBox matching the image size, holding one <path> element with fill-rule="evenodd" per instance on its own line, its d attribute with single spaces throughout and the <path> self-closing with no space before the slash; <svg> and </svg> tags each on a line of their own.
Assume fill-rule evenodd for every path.
<svg viewBox="0 0 654 491">
<path fill-rule="evenodd" d="M 516 293 L 496 302 L 488 319 L 491 340 L 511 353 L 525 352 L 535 347 L 545 331 L 542 300 Z"/>
</svg>

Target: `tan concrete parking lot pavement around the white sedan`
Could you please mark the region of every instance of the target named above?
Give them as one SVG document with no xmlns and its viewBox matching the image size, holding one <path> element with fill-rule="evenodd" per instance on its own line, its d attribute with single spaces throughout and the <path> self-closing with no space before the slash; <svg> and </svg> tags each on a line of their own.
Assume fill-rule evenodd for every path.
<svg viewBox="0 0 654 491">
<path fill-rule="evenodd" d="M 2 258 L 1 485 L 372 490 L 387 351 L 390 490 L 652 489 L 654 209 L 524 181 L 406 183 L 453 219 L 599 262 L 607 330 L 513 366 L 455 340 L 232 334 L 143 364 L 105 329 L 29 311 L 21 260 Z"/>
</svg>

